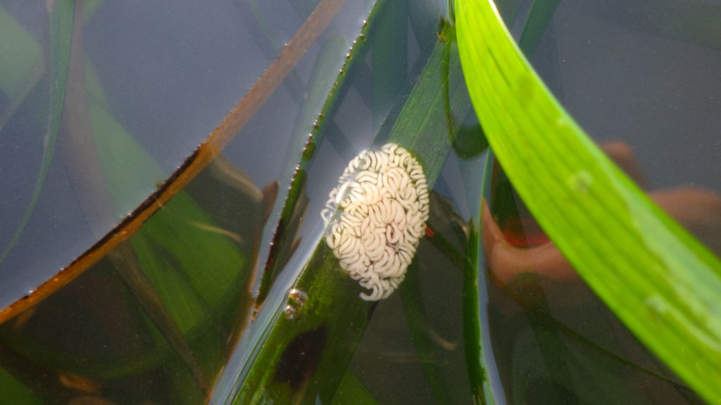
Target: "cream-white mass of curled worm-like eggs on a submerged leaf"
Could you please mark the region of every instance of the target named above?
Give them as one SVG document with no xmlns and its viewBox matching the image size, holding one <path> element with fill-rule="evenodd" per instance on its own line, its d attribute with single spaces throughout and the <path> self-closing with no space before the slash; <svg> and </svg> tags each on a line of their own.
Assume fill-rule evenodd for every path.
<svg viewBox="0 0 721 405">
<path fill-rule="evenodd" d="M 350 161 L 321 215 L 326 242 L 367 301 L 388 298 L 405 277 L 428 221 L 428 184 L 409 151 L 386 143 Z"/>
</svg>

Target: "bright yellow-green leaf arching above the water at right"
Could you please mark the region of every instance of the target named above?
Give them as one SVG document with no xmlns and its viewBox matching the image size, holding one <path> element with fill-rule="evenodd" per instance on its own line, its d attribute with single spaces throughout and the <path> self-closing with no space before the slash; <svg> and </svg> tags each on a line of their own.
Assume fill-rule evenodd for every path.
<svg viewBox="0 0 721 405">
<path fill-rule="evenodd" d="M 466 81 L 488 141 L 591 288 L 708 401 L 721 399 L 721 262 L 567 115 L 488 0 L 456 0 Z"/>
</svg>

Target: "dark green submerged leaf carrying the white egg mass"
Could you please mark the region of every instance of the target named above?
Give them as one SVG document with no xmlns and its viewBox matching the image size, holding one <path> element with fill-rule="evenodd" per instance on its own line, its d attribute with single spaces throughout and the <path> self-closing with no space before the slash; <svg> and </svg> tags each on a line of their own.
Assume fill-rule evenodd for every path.
<svg viewBox="0 0 721 405">
<path fill-rule="evenodd" d="M 439 37 L 448 38 L 453 30 L 446 25 Z M 445 50 L 451 45 L 445 40 L 436 44 L 394 125 L 376 138 L 376 145 L 392 141 L 415 153 L 430 187 L 451 151 L 448 136 L 443 133 L 444 81 L 452 81 L 447 88 L 453 96 L 450 105 L 454 114 L 464 116 L 470 111 L 467 95 L 459 91 L 464 82 L 457 53 L 450 61 L 451 72 L 456 74 L 443 74 Z M 286 287 L 274 285 L 253 325 L 255 331 L 242 342 L 239 377 L 235 382 L 239 392 L 234 404 L 332 399 L 374 308 L 373 303 L 358 298 L 360 286 L 340 269 L 322 239 L 292 285 L 307 295 L 302 306 L 279 290 Z M 283 314 L 288 307 L 291 316 Z M 300 353 L 308 354 L 302 357 Z M 308 358 L 314 360 L 296 361 Z"/>
</svg>

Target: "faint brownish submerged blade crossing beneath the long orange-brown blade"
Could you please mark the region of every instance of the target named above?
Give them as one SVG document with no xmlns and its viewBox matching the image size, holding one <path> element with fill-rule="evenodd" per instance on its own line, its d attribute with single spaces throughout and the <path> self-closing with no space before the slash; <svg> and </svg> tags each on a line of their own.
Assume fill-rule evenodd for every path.
<svg viewBox="0 0 721 405">
<path fill-rule="evenodd" d="M 63 164 L 68 173 L 87 223 L 96 236 L 102 236 L 107 228 L 116 220 L 113 205 L 118 195 L 108 187 L 99 149 L 96 147 L 97 131 L 94 128 L 92 100 L 87 97 L 85 58 L 84 58 L 84 2 L 74 3 L 73 30 L 71 50 L 68 59 L 68 79 L 62 119 L 58 126 L 60 134 Z M 97 112 L 95 110 L 94 112 Z M 118 150 L 115 150 L 117 153 Z M 117 156 L 114 156 L 117 159 Z M 137 156 L 136 156 L 137 157 Z M 131 244 L 123 243 L 118 249 L 110 252 L 108 258 L 118 271 L 118 275 L 131 290 L 143 310 L 153 320 L 168 344 L 173 347 L 203 391 L 207 391 L 208 382 L 203 375 L 200 364 L 190 351 L 182 332 L 172 319 L 168 308 L 164 306 L 156 288 L 151 285 L 148 277 L 138 262 Z"/>
</svg>

